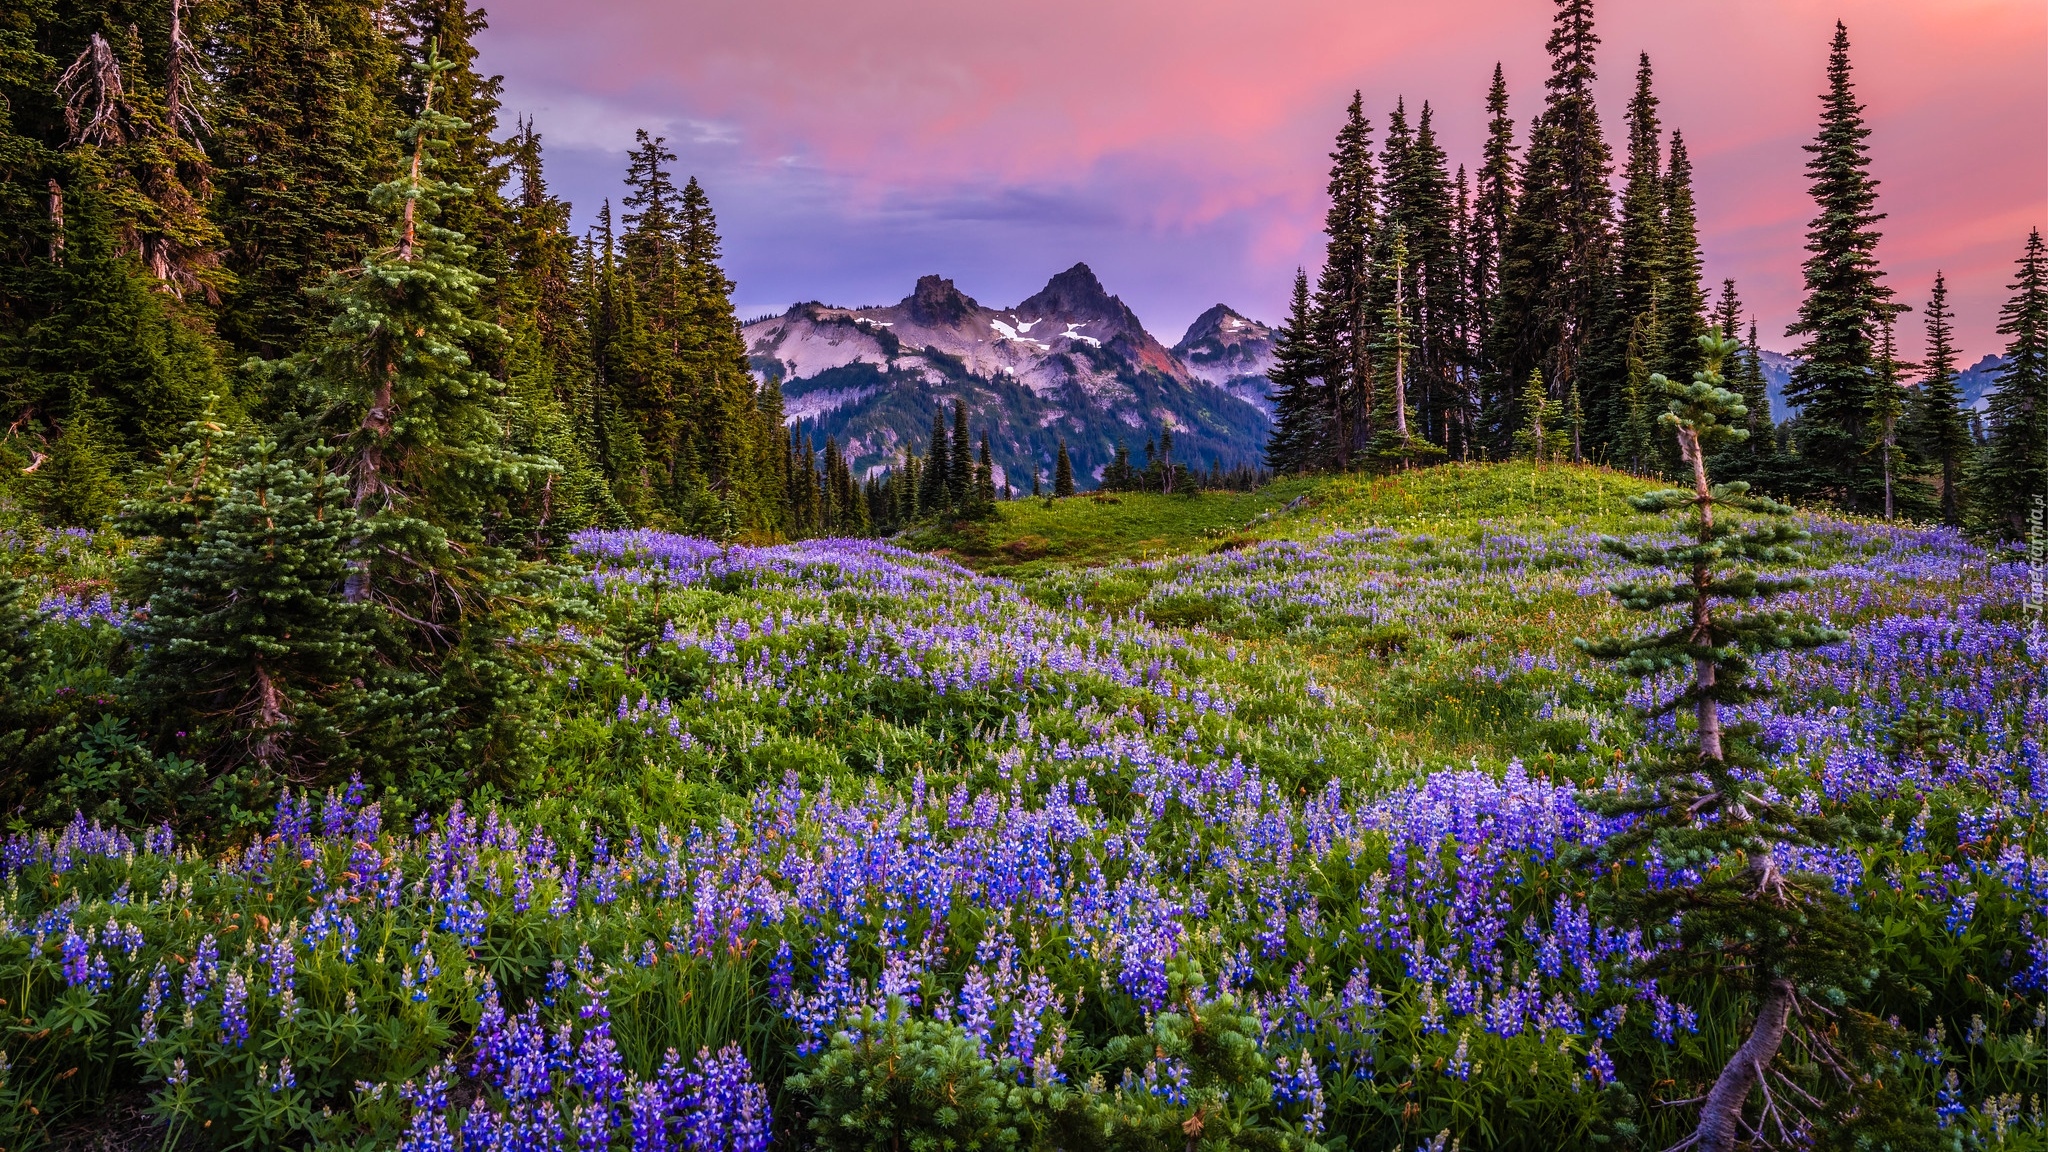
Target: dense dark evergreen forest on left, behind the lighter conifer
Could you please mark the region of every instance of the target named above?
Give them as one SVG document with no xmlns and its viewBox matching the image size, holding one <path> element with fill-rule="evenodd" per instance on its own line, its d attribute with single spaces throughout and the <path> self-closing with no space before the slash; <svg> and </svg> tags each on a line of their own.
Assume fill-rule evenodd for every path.
<svg viewBox="0 0 2048 1152">
<path fill-rule="evenodd" d="M 432 285 L 461 371 L 508 453 L 553 461 L 496 515 L 553 533 L 815 529 L 799 508 L 821 478 L 797 478 L 778 398 L 748 373 L 702 187 L 678 187 L 676 156 L 641 133 L 616 219 L 606 203 L 571 234 L 539 133 L 500 123 L 481 10 L 66 0 L 0 20 L 0 494 L 16 515 L 98 525 L 209 406 L 287 451 L 334 447 L 309 365 L 360 336 L 352 293 L 403 244 L 393 209 L 418 203 L 467 279 Z M 416 172 L 440 191 L 412 191 Z"/>
</svg>

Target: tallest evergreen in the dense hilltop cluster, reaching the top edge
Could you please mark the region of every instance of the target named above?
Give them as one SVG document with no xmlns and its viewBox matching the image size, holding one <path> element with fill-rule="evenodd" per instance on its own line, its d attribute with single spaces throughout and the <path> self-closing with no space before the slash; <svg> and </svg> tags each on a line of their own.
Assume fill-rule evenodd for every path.
<svg viewBox="0 0 2048 1152">
<path fill-rule="evenodd" d="M 1530 127 L 1489 351 L 1509 379 L 1546 369 L 1561 394 L 1585 371 L 1612 279 L 1612 158 L 1593 102 L 1597 47 L 1591 0 L 1556 0 L 1548 98 Z M 1612 424 L 1618 389 L 1610 383 L 1585 379 L 1585 404 L 1599 424 Z M 1516 420 L 1524 422 L 1526 414 Z"/>
</svg>

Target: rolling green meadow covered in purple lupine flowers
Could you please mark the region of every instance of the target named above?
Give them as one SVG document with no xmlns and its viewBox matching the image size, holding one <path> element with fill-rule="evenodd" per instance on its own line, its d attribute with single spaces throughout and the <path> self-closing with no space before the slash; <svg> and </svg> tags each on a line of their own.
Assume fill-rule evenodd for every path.
<svg viewBox="0 0 2048 1152">
<path fill-rule="evenodd" d="M 1597 537 L 1665 531 L 1642 488 L 1491 465 L 1083 496 L 930 551 L 588 535 L 586 650 L 547 672 L 520 779 L 428 812 L 295 791 L 252 845 L 117 828 L 127 797 L 80 783 L 86 816 L 4 845 L 0 1144 L 147 1107 L 223 1146 L 555 1117 L 627 1148 L 621 1101 L 709 1109 L 688 1054 L 731 1043 L 719 1076 L 799 1148 L 850 1097 L 793 1076 L 881 1011 L 1022 1084 L 987 1099 L 1030 1148 L 1092 1146 L 1083 1121 L 1184 1148 L 1225 1115 L 1196 1091 L 1233 1101 L 1229 1148 L 1667 1148 L 1753 1009 L 1649 976 L 1642 927 L 1561 867 L 1608 834 L 1581 789 L 1671 734 L 1645 719 L 1671 683 L 1571 644 L 1640 623 Z M 1767 662 L 1782 699 L 1745 715 L 1776 787 L 1862 828 L 1802 863 L 1872 933 L 1839 1006 L 1903 1029 L 1853 1099 L 1919 1140 L 1892 1148 L 2038 1152 L 2048 666 L 2019 568 L 1808 525 L 1796 607 L 1853 635 Z M 109 699 L 121 607 L 84 596 L 121 549 L 10 553 Z M 82 781 L 123 724 L 82 736 Z M 1255 1058 L 1206 1064 L 1188 1011 Z M 891 1027 L 858 1025 L 909 1060 Z M 1823 1119 L 1851 1107 L 1784 1072 Z"/>
</svg>

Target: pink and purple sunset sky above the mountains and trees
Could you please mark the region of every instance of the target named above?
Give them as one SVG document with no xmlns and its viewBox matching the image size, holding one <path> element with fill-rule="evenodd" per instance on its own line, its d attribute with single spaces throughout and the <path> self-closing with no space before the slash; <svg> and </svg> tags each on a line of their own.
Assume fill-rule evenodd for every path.
<svg viewBox="0 0 2048 1152">
<path fill-rule="evenodd" d="M 1901 299 L 1946 269 L 1968 361 L 2048 225 L 2048 4 L 1604 0 L 1602 117 L 1636 53 L 1698 168 L 1710 283 L 1784 336 L 1804 154 L 1835 18 L 1868 105 L 1878 256 Z M 635 127 L 713 197 L 741 314 L 883 303 L 942 273 L 1016 303 L 1090 262 L 1167 342 L 1217 301 L 1278 322 L 1321 260 L 1329 137 L 1354 88 L 1376 137 L 1407 96 L 1477 168 L 1493 64 L 1540 107 L 1550 0 L 496 0 L 483 64 L 532 115 L 588 223 Z M 1919 351 L 1917 314 L 1903 326 Z"/>
</svg>

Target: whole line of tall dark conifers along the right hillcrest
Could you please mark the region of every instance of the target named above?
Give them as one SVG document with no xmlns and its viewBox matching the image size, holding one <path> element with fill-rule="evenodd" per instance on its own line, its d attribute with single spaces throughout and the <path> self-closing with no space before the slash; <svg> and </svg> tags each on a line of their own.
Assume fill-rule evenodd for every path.
<svg viewBox="0 0 2048 1152">
<path fill-rule="evenodd" d="M 1911 307 L 1884 283 L 1878 180 L 1847 29 L 1829 53 L 1806 146 L 1815 197 L 1802 342 L 1772 422 L 1755 320 L 1735 281 L 1702 279 L 1694 166 L 1663 127 L 1649 53 L 1628 102 L 1620 193 L 1593 102 L 1591 0 L 1561 0 L 1542 109 L 1518 141 L 1499 68 L 1477 172 L 1448 168 L 1432 109 L 1372 121 L 1354 96 L 1329 168 L 1327 252 L 1296 275 L 1272 373 L 1276 471 L 1409 467 L 1430 459 L 1569 457 L 1642 476 L 1679 471 L 1659 430 L 1655 375 L 1692 379 L 1700 338 L 1743 342 L 1729 383 L 1749 439 L 1714 474 L 1849 512 L 2023 535 L 2048 494 L 2048 262 L 2028 238 L 1999 332 L 2007 365 L 1989 412 L 1958 402 L 1948 285 L 1925 303 L 1927 348 L 1894 338 Z"/>
</svg>

